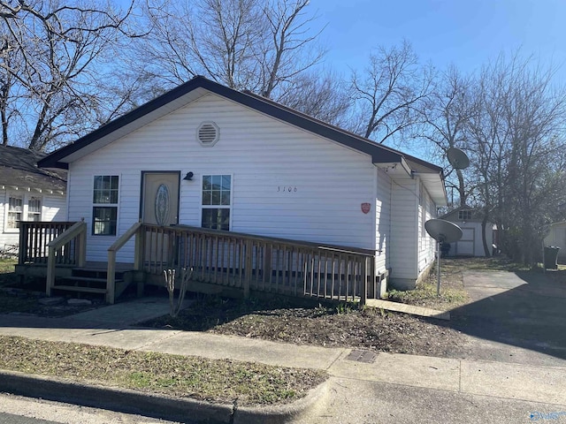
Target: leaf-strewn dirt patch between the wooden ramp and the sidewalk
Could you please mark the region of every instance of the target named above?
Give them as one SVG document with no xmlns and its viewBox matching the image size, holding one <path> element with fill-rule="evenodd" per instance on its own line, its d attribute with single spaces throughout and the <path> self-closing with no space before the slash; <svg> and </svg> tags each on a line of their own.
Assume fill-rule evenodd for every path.
<svg viewBox="0 0 566 424">
<path fill-rule="evenodd" d="M 209 297 L 196 300 L 177 318 L 163 316 L 142 325 L 428 356 L 454 356 L 463 345 L 463 335 L 438 320 L 350 304 L 296 307 L 292 302 Z"/>
</svg>

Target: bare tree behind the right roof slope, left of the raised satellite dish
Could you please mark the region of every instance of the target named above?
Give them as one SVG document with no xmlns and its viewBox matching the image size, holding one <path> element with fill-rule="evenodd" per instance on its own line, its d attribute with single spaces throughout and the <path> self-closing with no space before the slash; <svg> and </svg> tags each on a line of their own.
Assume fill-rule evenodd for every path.
<svg viewBox="0 0 566 424">
<path fill-rule="evenodd" d="M 402 136 L 421 122 L 418 113 L 432 92 L 432 69 L 420 66 L 409 42 L 380 47 L 362 74 L 353 72 L 351 87 L 360 123 L 354 131 L 379 143 Z"/>
</svg>

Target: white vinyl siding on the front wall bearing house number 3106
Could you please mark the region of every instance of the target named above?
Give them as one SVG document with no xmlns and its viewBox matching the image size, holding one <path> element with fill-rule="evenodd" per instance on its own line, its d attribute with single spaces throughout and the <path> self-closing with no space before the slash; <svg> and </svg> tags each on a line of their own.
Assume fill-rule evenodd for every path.
<svg viewBox="0 0 566 424">
<path fill-rule="evenodd" d="M 218 125 L 221 137 L 203 148 L 196 129 L 208 121 Z M 231 231 L 375 248 L 375 216 L 360 208 L 375 201 L 376 172 L 369 155 L 217 95 L 71 163 L 69 219 L 79 220 L 92 207 L 92 175 L 119 170 L 118 235 L 123 234 L 139 219 L 142 170 L 164 167 L 195 174 L 192 181 L 181 180 L 181 224 L 201 225 L 203 175 L 232 175 Z M 89 236 L 88 261 L 105 261 L 110 239 Z M 132 258 L 130 243 L 118 259 Z"/>
</svg>

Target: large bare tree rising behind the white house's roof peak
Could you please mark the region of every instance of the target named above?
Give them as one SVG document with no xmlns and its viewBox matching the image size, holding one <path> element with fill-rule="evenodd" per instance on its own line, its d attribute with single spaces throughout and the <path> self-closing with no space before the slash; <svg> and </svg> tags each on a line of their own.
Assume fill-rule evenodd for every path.
<svg viewBox="0 0 566 424">
<path fill-rule="evenodd" d="M 136 53 L 146 60 L 132 64 L 160 87 L 204 75 L 335 121 L 345 110 L 339 100 L 345 96 L 343 90 L 331 93 L 340 85 L 333 74 L 311 72 L 325 51 L 317 44 L 319 33 L 310 31 L 316 16 L 308 5 L 308 0 L 148 2 L 149 37 L 139 40 Z"/>
</svg>

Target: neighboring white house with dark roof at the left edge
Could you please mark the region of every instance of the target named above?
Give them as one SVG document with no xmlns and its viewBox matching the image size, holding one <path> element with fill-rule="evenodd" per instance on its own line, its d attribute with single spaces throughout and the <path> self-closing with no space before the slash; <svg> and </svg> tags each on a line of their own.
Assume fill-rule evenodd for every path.
<svg viewBox="0 0 566 424">
<path fill-rule="evenodd" d="M 0 146 L 0 251 L 15 254 L 19 221 L 65 221 L 66 172 L 37 167 L 44 154 Z"/>
</svg>

